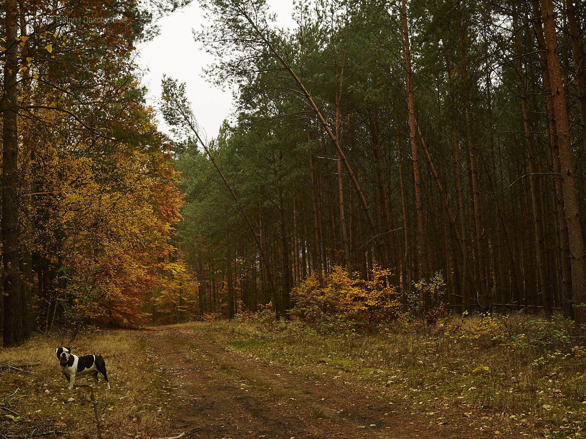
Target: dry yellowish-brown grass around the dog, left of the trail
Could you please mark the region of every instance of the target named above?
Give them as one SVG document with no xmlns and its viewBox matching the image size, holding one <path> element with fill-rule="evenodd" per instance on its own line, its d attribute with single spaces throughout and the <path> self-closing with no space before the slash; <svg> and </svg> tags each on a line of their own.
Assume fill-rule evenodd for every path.
<svg viewBox="0 0 586 439">
<path fill-rule="evenodd" d="M 0 361 L 14 364 L 40 360 L 40 366 L 26 372 L 2 372 L 0 401 L 6 401 L 9 410 L 19 416 L 0 409 L 0 413 L 15 417 L 0 418 L 0 437 L 8 431 L 25 434 L 50 430 L 65 431 L 71 437 L 85 433 L 97 437 L 90 389 L 82 387 L 93 385 L 93 380 L 80 377 L 73 390 L 67 388 L 54 354 L 54 349 L 62 345 L 56 338 L 35 337 L 22 347 L 0 348 Z M 106 389 L 101 375 L 98 388 L 94 389 L 104 439 L 166 435 L 171 409 L 161 397 L 161 378 L 147 344 L 138 333 L 93 332 L 67 347 L 76 355 L 104 356 L 111 390 Z M 74 401 L 68 402 L 71 397 Z"/>
</svg>

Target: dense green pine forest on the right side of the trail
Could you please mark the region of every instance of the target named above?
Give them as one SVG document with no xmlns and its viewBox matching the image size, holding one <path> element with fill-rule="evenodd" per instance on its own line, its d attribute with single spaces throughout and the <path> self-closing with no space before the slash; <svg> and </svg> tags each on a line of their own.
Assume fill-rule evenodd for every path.
<svg viewBox="0 0 586 439">
<path fill-rule="evenodd" d="M 162 108 L 200 314 L 287 318 L 341 267 L 350 307 L 584 324 L 582 5 L 301 2 L 289 32 L 262 1 L 208 8 L 237 121 L 206 146 L 169 78 Z"/>
</svg>

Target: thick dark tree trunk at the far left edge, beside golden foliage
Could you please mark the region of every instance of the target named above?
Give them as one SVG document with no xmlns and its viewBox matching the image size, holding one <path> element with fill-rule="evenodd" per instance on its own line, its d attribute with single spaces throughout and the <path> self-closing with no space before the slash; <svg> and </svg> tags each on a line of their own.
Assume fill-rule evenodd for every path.
<svg viewBox="0 0 586 439">
<path fill-rule="evenodd" d="M 5 4 L 6 51 L 4 94 L 2 95 L 2 262 L 4 263 L 4 347 L 25 341 L 23 317 L 25 297 L 19 255 L 19 175 L 18 175 L 18 87 L 16 52 L 18 52 L 18 5 Z"/>
</svg>

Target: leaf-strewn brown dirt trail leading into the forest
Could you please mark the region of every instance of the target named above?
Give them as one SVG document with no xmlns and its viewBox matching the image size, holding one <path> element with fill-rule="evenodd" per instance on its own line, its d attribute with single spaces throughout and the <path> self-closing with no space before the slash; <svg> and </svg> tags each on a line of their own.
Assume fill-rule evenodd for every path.
<svg viewBox="0 0 586 439">
<path fill-rule="evenodd" d="M 156 327 L 143 337 L 179 407 L 174 434 L 192 438 L 482 438 L 466 424 L 430 423 L 402 404 L 382 404 L 331 380 L 311 381 L 198 337 L 193 328 Z M 317 377 L 316 377 L 317 378 Z M 322 418 L 322 419 L 319 419 Z M 171 434 L 171 433 L 169 433 Z"/>
</svg>

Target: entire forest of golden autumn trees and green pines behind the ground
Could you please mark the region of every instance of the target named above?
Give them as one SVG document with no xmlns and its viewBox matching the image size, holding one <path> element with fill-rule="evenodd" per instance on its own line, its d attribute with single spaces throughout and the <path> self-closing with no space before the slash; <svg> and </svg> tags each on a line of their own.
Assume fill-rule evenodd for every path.
<svg viewBox="0 0 586 439">
<path fill-rule="evenodd" d="M 584 327 L 584 4 L 301 0 L 287 30 L 202 5 L 236 96 L 210 139 L 134 61 L 179 2 L 2 5 L 5 346 L 251 313 Z"/>
</svg>

